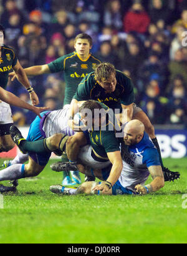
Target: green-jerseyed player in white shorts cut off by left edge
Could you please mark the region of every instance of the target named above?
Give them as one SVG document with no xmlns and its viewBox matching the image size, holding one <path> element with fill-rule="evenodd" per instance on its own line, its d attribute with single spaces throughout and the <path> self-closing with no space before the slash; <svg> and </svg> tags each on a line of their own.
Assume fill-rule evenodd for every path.
<svg viewBox="0 0 187 256">
<path fill-rule="evenodd" d="M 39 99 L 27 79 L 26 72 L 16 57 L 14 51 L 4 45 L 4 27 L 0 25 L 0 86 L 6 89 L 8 76 L 11 69 L 16 73 L 19 82 L 27 89 L 33 105 L 39 104 Z M 14 147 L 14 142 L 9 134 L 12 126 L 11 107 L 6 102 L 0 102 L 0 152 L 9 151 Z"/>
</svg>

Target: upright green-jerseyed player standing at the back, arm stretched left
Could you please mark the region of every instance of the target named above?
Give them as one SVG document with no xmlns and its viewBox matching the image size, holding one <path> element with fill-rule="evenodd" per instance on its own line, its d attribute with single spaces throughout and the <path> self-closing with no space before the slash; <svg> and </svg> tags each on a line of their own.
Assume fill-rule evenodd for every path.
<svg viewBox="0 0 187 256">
<path fill-rule="evenodd" d="M 87 76 L 87 74 L 94 71 L 95 67 L 100 64 L 100 61 L 90 53 L 90 49 L 92 49 L 92 37 L 88 34 L 78 34 L 75 37 L 74 47 L 74 52 L 59 57 L 49 64 L 32 66 L 24 69 L 27 76 L 39 76 L 42 74 L 64 71 L 64 106 L 70 104 L 82 79 Z M 14 80 L 15 76 L 13 72 L 9 76 L 11 76 L 11 80 Z M 73 172 L 72 177 L 75 181 L 80 182 L 80 176 L 78 173 Z M 72 185 L 69 173 L 64 172 L 62 184 Z"/>
</svg>

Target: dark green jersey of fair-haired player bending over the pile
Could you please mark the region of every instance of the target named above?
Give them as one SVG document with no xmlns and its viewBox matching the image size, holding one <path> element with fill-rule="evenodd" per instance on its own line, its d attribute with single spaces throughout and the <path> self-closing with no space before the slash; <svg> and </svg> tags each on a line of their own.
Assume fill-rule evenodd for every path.
<svg viewBox="0 0 187 256">
<path fill-rule="evenodd" d="M 91 72 L 80 82 L 74 99 L 77 101 L 94 99 L 95 101 L 103 102 L 113 110 L 120 109 L 121 112 L 121 104 L 126 106 L 132 104 L 135 101 L 135 96 L 133 83 L 129 77 L 125 76 L 121 71 L 116 70 L 116 79 L 117 85 L 115 91 L 109 94 L 95 80 L 94 72 Z"/>
</svg>

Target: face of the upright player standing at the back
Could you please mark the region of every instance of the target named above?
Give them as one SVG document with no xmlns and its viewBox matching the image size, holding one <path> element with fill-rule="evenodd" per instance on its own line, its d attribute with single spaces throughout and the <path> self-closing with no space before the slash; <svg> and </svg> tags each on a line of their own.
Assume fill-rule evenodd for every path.
<svg viewBox="0 0 187 256">
<path fill-rule="evenodd" d="M 74 44 L 74 47 L 75 51 L 80 57 L 88 57 L 90 49 L 92 48 L 90 46 L 88 39 L 77 39 L 77 41 Z"/>
</svg>

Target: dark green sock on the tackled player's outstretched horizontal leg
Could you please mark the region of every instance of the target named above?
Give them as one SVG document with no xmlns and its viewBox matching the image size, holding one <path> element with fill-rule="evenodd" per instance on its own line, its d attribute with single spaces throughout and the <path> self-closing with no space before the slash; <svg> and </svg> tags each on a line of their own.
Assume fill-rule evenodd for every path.
<svg viewBox="0 0 187 256">
<path fill-rule="evenodd" d="M 36 153 L 51 152 L 47 148 L 46 139 L 36 140 L 36 141 L 21 140 L 19 144 L 19 148 L 23 152 L 36 152 Z"/>
</svg>

